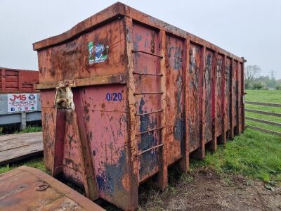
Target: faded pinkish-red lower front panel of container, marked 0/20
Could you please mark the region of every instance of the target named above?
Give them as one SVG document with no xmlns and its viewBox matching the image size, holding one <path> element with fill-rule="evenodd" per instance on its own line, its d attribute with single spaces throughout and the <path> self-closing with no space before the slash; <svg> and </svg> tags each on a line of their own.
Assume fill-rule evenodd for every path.
<svg viewBox="0 0 281 211">
<path fill-rule="evenodd" d="M 99 196 L 116 205 L 129 198 L 126 87 L 108 85 L 74 91 L 83 115 Z M 79 110 L 81 109 L 81 110 Z"/>
</svg>

